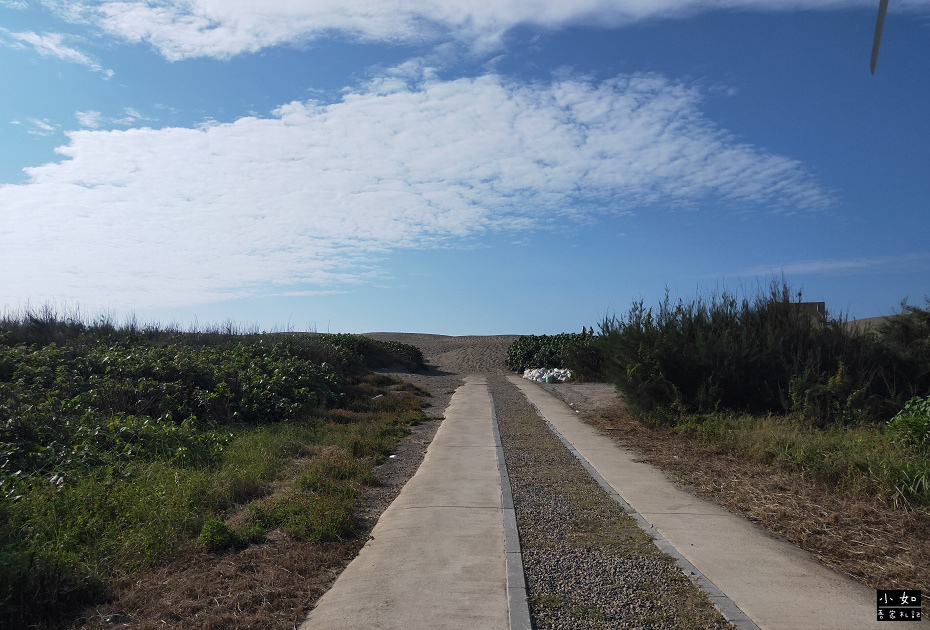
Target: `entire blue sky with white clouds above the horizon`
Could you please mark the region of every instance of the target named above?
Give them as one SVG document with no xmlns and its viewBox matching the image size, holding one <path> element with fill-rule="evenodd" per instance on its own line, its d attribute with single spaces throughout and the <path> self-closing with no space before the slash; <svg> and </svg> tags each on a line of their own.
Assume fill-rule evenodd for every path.
<svg viewBox="0 0 930 630">
<path fill-rule="evenodd" d="M 482 7 L 479 5 L 488 4 Z M 0 0 L 0 304 L 556 333 L 930 295 L 930 0 Z"/>
</svg>

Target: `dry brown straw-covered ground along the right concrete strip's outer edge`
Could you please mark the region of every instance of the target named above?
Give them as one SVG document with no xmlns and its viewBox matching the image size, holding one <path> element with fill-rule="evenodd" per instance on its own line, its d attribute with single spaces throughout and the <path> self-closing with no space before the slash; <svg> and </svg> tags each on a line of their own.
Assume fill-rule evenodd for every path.
<svg viewBox="0 0 930 630">
<path fill-rule="evenodd" d="M 863 584 L 930 591 L 930 511 L 895 509 L 881 497 L 837 491 L 799 470 L 746 461 L 726 448 L 647 427 L 622 403 L 585 420 L 696 494 Z"/>
</svg>

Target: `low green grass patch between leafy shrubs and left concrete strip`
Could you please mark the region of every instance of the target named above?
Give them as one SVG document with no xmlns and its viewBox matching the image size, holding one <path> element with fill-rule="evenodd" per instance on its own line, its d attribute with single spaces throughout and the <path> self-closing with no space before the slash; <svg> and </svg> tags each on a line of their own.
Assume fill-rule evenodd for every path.
<svg viewBox="0 0 930 630">
<path fill-rule="evenodd" d="M 333 410 L 232 427 L 200 467 L 136 460 L 19 479 L 16 496 L 0 498 L 0 622 L 24 626 L 92 602 L 112 576 L 163 562 L 185 541 L 219 552 L 278 527 L 307 540 L 350 537 L 356 487 L 375 482 L 374 462 L 421 417 Z M 248 518 L 233 528 L 225 513 L 237 509 Z"/>
</svg>

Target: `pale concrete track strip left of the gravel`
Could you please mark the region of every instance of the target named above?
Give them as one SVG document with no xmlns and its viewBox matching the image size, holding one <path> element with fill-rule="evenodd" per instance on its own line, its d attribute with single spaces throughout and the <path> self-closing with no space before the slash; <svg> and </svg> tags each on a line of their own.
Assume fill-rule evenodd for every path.
<svg viewBox="0 0 930 630">
<path fill-rule="evenodd" d="M 487 380 L 469 376 L 417 473 L 301 630 L 509 628 Z"/>
</svg>

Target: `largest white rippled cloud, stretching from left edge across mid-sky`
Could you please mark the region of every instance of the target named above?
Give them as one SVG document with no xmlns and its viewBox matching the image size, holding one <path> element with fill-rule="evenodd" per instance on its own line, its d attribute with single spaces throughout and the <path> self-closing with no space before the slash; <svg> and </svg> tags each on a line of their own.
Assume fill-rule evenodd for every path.
<svg viewBox="0 0 930 630">
<path fill-rule="evenodd" d="M 67 159 L 0 187 L 0 268 L 14 270 L 0 299 L 336 290 L 393 249 L 489 230 L 653 203 L 831 203 L 801 164 L 737 142 L 697 90 L 659 75 L 384 88 L 195 129 L 69 132 Z"/>
</svg>

